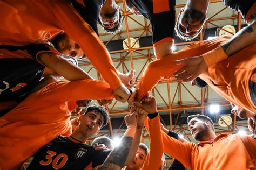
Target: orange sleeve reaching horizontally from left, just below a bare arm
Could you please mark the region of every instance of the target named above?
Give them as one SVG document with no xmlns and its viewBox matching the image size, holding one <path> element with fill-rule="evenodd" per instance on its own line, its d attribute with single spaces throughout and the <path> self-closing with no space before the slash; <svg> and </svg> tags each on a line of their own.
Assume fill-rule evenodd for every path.
<svg viewBox="0 0 256 170">
<path fill-rule="evenodd" d="M 38 96 L 51 101 L 114 98 L 113 90 L 111 90 L 109 84 L 93 79 L 51 83 L 41 89 Z"/>
</svg>

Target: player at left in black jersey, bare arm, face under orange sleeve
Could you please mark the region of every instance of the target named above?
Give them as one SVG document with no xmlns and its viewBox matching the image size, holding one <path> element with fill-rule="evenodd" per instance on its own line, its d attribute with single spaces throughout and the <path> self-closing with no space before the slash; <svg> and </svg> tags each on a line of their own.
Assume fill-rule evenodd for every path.
<svg viewBox="0 0 256 170">
<path fill-rule="evenodd" d="M 91 78 L 77 66 L 75 58 L 80 58 L 84 54 L 76 42 L 65 33 L 53 38 L 52 42 L 53 44 L 25 46 L 0 45 L 1 115 L 23 101 L 31 92 L 57 81 L 54 77 L 48 76 L 63 76 L 69 81 Z M 43 77 L 47 79 L 42 79 Z M 8 104 L 14 101 L 16 105 Z"/>
</svg>

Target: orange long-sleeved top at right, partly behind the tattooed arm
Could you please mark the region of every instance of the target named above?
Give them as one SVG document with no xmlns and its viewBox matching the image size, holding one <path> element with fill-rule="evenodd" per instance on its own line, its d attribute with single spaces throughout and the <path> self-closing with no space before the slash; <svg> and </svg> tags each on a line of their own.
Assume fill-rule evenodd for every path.
<svg viewBox="0 0 256 170">
<path fill-rule="evenodd" d="M 190 45 L 183 50 L 151 62 L 139 83 L 138 97 L 148 95 L 156 86 L 161 77 L 173 77 L 173 72 L 184 65 L 174 65 L 173 60 L 199 56 L 219 47 L 228 39 L 216 38 Z M 205 80 L 219 95 L 240 107 L 256 112 L 251 101 L 249 80 L 256 66 L 256 45 L 251 45 L 240 52 L 231 55 L 228 59 L 208 68 L 200 78 Z M 214 82 L 214 83 L 211 83 Z M 215 84 L 215 85 L 214 85 Z"/>
</svg>

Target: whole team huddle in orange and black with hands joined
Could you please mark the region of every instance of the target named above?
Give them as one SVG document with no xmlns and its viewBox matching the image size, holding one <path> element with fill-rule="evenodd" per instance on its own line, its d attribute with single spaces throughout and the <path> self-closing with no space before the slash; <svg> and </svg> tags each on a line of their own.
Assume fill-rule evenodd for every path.
<svg viewBox="0 0 256 170">
<path fill-rule="evenodd" d="M 176 0 L 179 1 L 179 0 Z M 210 0 L 188 0 L 175 17 L 175 0 L 125 0 L 150 20 L 156 60 L 135 83 L 135 71 L 120 73 L 99 38 L 120 30 L 122 13 L 114 0 L 0 1 L 0 169 L 256 169 L 256 1 L 223 0 L 247 23 L 233 37 L 218 37 L 173 52 L 174 34 L 196 38 L 207 20 Z M 78 67 L 88 58 L 105 81 Z M 22 66 L 22 67 L 21 67 Z M 64 77 L 66 81 L 59 79 Z M 149 92 L 162 77 L 210 86 L 230 101 L 231 113 L 248 119 L 251 136 L 215 134 L 208 116 L 187 117 L 198 144 L 160 123 Z M 131 86 L 132 85 L 132 86 Z M 102 105 L 127 102 L 127 129 L 121 145 L 98 137 L 109 121 Z M 91 105 L 97 100 L 98 105 Z M 86 110 L 84 110 L 86 108 Z M 70 120 L 71 114 L 79 117 Z M 143 128 L 150 149 L 140 143 Z"/>
</svg>

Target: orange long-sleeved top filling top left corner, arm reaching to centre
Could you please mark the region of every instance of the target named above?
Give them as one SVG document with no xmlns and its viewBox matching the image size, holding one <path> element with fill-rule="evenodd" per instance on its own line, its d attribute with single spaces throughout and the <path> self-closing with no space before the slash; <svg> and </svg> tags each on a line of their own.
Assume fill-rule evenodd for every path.
<svg viewBox="0 0 256 170">
<path fill-rule="evenodd" d="M 66 32 L 112 89 L 121 86 L 109 52 L 79 13 L 60 0 L 0 1 L 0 45 L 43 43 Z"/>
</svg>

